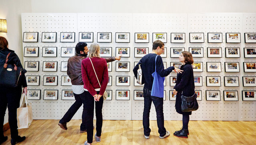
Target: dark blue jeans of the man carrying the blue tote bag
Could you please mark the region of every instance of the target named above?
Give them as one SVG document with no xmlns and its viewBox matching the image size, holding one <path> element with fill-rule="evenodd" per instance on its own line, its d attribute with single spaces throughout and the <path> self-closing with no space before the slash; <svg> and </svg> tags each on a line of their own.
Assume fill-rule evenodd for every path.
<svg viewBox="0 0 256 145">
<path fill-rule="evenodd" d="M 143 89 L 144 93 L 144 110 L 143 110 L 143 127 L 144 135 L 149 136 L 151 129 L 149 128 L 149 113 L 152 102 L 156 108 L 156 120 L 158 126 L 158 133 L 161 137 L 166 134 L 166 129 L 164 128 L 164 113 L 163 113 L 163 98 L 158 98 L 151 96 L 151 91 L 147 88 Z"/>
</svg>

